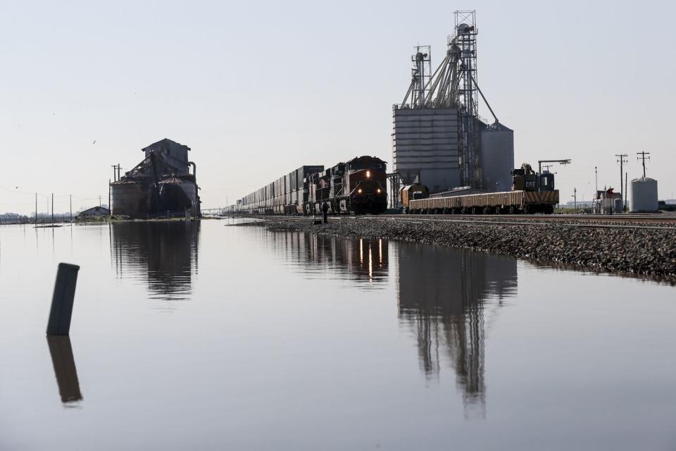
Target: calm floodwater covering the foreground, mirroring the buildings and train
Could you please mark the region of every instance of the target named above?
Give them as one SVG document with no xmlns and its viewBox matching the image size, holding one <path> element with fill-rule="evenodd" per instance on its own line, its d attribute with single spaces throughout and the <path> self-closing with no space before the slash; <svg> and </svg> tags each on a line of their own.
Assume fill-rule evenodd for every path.
<svg viewBox="0 0 676 451">
<path fill-rule="evenodd" d="M 672 286 L 226 225 L 0 228 L 0 450 L 676 449 Z"/>
</svg>

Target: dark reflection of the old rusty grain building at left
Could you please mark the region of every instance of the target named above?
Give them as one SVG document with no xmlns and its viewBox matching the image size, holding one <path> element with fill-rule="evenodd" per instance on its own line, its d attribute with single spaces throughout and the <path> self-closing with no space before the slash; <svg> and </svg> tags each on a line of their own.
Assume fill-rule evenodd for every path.
<svg viewBox="0 0 676 451">
<path fill-rule="evenodd" d="M 199 221 L 111 224 L 115 273 L 146 280 L 150 297 L 187 299 L 198 269 Z"/>
</svg>

